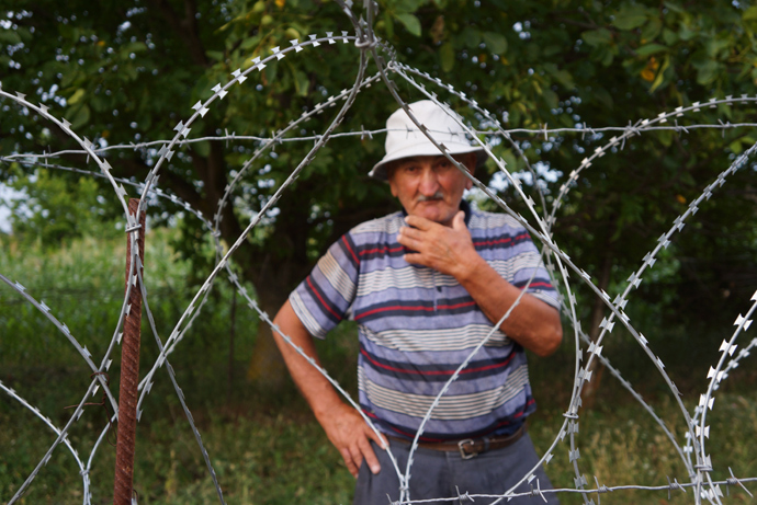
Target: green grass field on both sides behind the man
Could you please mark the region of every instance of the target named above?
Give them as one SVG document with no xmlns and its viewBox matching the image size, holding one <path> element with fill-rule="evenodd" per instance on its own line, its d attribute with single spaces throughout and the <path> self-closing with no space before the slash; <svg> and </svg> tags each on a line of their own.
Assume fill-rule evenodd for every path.
<svg viewBox="0 0 757 505">
<path fill-rule="evenodd" d="M 37 254 L 1 242 L 0 273 L 22 280 L 30 294 L 44 298 L 72 334 L 99 356 L 113 331 L 123 294 L 122 244 L 84 239 L 55 253 Z M 149 286 L 151 307 L 162 335 L 170 332 L 193 292 L 187 280 L 191 277 L 190 265 L 177 259 L 167 243 L 165 238 L 148 241 L 146 254 L 146 275 L 156 279 Z M 49 322 L 20 302 L 4 285 L 1 288 L 0 380 L 60 426 L 70 415 L 65 406 L 77 403 L 86 390 L 89 370 Z M 352 477 L 294 388 L 271 393 L 256 390 L 245 380 L 257 325 L 257 318 L 249 311 L 237 311 L 235 354 L 229 360 L 230 292 L 219 283 L 203 317 L 171 356 L 227 503 L 351 503 Z M 713 347 L 710 355 L 716 355 L 720 340 L 722 335 L 713 336 L 708 344 Z M 149 364 L 156 356 L 155 343 L 145 337 L 143 342 L 143 364 Z M 341 328 L 319 346 L 327 369 L 354 393 L 354 328 Z M 624 374 L 628 370 L 629 378 L 682 444 L 680 412 L 637 349 L 618 346 L 606 354 L 620 364 Z M 539 450 L 551 445 L 564 420 L 573 359 L 572 344 L 566 338 L 555 356 L 531 360 L 540 406 L 530 420 L 530 434 Z M 728 477 L 728 467 L 739 477 L 757 477 L 757 378 L 754 367 L 749 368 L 752 363 L 745 361 L 716 392 L 714 410 L 708 417 L 711 438 L 707 449 L 716 480 Z M 707 366 L 686 359 L 670 364 L 670 374 L 683 391 L 689 411 L 705 387 Z M 115 385 L 117 366 L 111 378 Z M 113 391 L 116 389 L 112 386 Z M 69 439 L 82 458 L 89 456 L 104 426 L 104 410 L 92 406 L 74 426 Z M 54 439 L 54 434 L 29 411 L 0 394 L 0 503 L 13 496 Z M 609 376 L 603 379 L 596 405 L 581 411 L 576 439 L 579 471 L 590 487 L 596 485 L 595 475 L 608 486 L 664 485 L 668 477 L 671 481 L 687 481 L 667 437 Z M 574 487 L 567 440 L 557 446 L 546 467 L 553 484 L 560 487 Z M 115 449 L 108 444 L 95 455 L 90 474 L 95 504 L 112 503 L 114 459 Z M 202 455 L 165 371 L 157 377 L 138 426 L 135 486 L 139 504 L 217 503 Z M 749 484 L 749 489 L 755 492 L 757 485 Z M 728 491 L 727 503 L 749 502 L 743 491 L 733 486 Z M 596 494 L 589 497 L 597 503 Z M 617 491 L 599 498 L 618 504 L 693 503 L 691 491 L 674 492 L 670 502 L 667 492 Z M 81 501 L 78 468 L 67 449 L 59 447 L 20 503 Z M 563 494 L 561 501 L 578 504 L 581 497 Z"/>
</svg>

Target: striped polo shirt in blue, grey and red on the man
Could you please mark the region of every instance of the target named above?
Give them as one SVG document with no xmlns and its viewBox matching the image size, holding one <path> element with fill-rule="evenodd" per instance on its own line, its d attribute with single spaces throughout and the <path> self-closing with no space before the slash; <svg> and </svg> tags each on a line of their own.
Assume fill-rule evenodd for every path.
<svg viewBox="0 0 757 505">
<path fill-rule="evenodd" d="M 506 280 L 553 307 L 557 295 L 529 233 L 510 216 L 461 204 L 478 254 Z M 404 213 L 342 236 L 290 295 L 305 328 L 325 337 L 359 324 L 360 405 L 376 426 L 411 438 L 454 370 L 493 323 L 450 275 L 411 265 L 397 242 Z M 431 413 L 421 440 L 505 435 L 535 410 L 523 348 L 494 332 Z"/>
</svg>

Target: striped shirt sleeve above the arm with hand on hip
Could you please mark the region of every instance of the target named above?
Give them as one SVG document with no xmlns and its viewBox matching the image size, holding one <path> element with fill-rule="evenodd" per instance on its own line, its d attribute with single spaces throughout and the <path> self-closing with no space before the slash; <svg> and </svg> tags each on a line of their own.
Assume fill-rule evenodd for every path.
<svg viewBox="0 0 757 505">
<path fill-rule="evenodd" d="M 312 335 L 324 338 L 346 318 L 354 300 L 359 273 L 354 242 L 350 233 L 346 233 L 292 291 L 290 303 Z"/>
</svg>

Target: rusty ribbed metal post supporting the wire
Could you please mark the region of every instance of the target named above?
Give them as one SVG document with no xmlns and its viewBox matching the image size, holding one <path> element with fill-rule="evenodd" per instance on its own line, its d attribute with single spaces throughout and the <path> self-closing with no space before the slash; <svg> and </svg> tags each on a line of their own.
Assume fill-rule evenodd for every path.
<svg viewBox="0 0 757 505">
<path fill-rule="evenodd" d="M 136 215 L 138 198 L 129 198 L 128 213 Z M 136 220 L 136 219 L 135 219 Z M 139 260 L 145 257 L 145 213 L 142 213 L 137 246 Z M 132 263 L 132 233 L 126 234 L 126 288 Z M 136 268 L 134 275 L 137 275 Z M 113 505 L 131 505 L 134 483 L 134 447 L 137 429 L 137 386 L 139 385 L 139 340 L 142 326 L 142 292 L 139 282 L 132 286 L 128 299 L 131 310 L 124 319 L 124 336 L 121 347 L 121 387 L 118 392 L 118 436 L 115 448 L 115 482 Z"/>
</svg>

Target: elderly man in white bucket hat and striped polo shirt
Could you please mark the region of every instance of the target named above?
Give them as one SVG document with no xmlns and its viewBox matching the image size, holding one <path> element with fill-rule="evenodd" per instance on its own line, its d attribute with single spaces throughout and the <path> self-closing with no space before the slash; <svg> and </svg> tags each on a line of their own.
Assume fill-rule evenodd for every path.
<svg viewBox="0 0 757 505">
<path fill-rule="evenodd" d="M 440 106 L 421 101 L 409 107 L 471 173 L 486 160 Z M 432 411 L 409 482 L 411 500 L 456 496 L 457 490 L 504 493 L 539 461 L 524 429 L 535 403 L 523 349 L 546 356 L 560 345 L 556 294 L 515 219 L 463 200 L 472 182 L 402 108 L 386 126 L 386 156 L 370 174 L 388 182 L 403 210 L 364 222 L 331 245 L 274 321 L 314 357 L 313 335 L 324 337 L 346 318 L 358 322 L 360 406 L 382 436 L 280 335 L 276 342 L 358 478 L 354 503 L 386 504 L 387 495 L 399 498 L 399 480 L 385 448 L 404 471 L 409 440 L 433 399 L 528 285 Z M 550 487 L 541 468 L 536 477 L 542 490 Z"/>
</svg>

